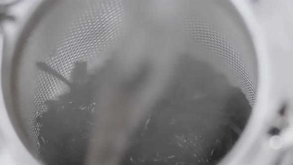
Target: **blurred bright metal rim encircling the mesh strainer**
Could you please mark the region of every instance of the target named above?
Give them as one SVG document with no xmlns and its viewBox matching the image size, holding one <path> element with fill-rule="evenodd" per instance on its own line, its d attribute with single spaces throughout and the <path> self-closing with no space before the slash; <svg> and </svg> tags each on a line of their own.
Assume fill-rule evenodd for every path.
<svg viewBox="0 0 293 165">
<path fill-rule="evenodd" d="M 22 0 L 5 11 L 14 16 L 14 20 L 2 20 L 3 51 L 1 56 L 1 92 L 0 92 L 0 162 L 9 165 L 39 165 L 23 144 L 24 135 L 18 131 L 19 126 L 10 113 L 12 105 L 11 72 L 19 45 L 23 42 L 23 36 L 27 35 L 31 26 L 49 8 L 50 3 L 57 0 Z M 251 6 L 247 0 L 231 0 L 245 22 L 255 46 L 258 64 L 258 89 L 257 103 L 252 117 L 240 140 L 232 151 L 224 158 L 222 165 L 259 165 L 266 164 L 259 161 L 276 160 L 280 151 L 273 150 L 267 143 L 270 137 L 266 136 L 267 129 L 274 125 L 278 117 L 278 111 L 282 107 L 283 97 L 276 96 L 273 100 L 273 76 L 271 74 L 271 61 L 269 59 L 268 43 L 262 32 L 258 20 L 253 16 Z M 7 86 L 9 86 L 7 88 Z M 11 122 L 12 121 L 12 122 Z M 269 159 L 270 158 L 270 159 Z M 5 162 L 6 161 L 6 162 Z M 265 162 L 265 161 L 264 161 Z"/>
</svg>

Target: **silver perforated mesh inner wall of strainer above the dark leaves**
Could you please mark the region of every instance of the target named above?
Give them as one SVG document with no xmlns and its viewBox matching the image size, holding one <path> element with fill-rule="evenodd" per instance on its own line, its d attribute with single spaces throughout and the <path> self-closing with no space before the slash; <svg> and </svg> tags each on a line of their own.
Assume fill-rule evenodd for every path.
<svg viewBox="0 0 293 165">
<path fill-rule="evenodd" d="M 46 62 L 67 79 L 76 61 L 87 61 L 90 72 L 108 58 L 103 51 L 119 39 L 124 15 L 122 0 L 52 3 L 26 38 L 15 82 L 19 98 L 16 104 L 21 107 L 17 113 L 25 134 L 32 139 L 28 146 L 37 153 L 40 146 L 36 118 L 46 111 L 47 99 L 57 98 L 69 88 L 38 71 L 35 62 Z M 192 41 L 190 52 L 201 47 L 203 53 L 198 58 L 224 73 L 253 106 L 258 76 L 255 52 L 240 16 L 228 0 L 195 0 L 194 12 L 184 21 L 184 27 Z"/>
</svg>

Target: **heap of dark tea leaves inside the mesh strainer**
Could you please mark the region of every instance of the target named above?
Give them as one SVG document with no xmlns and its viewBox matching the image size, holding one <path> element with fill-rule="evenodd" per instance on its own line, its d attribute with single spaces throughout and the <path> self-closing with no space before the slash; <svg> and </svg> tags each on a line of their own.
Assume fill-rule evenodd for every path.
<svg viewBox="0 0 293 165">
<path fill-rule="evenodd" d="M 60 77 L 48 66 L 42 70 Z M 138 127 L 122 165 L 215 165 L 237 141 L 251 111 L 241 90 L 189 55 L 183 56 L 175 75 Z M 96 76 L 87 74 L 86 62 L 76 62 L 70 92 L 46 101 L 48 110 L 37 118 L 42 162 L 83 165 L 93 141 L 90 84 Z"/>
</svg>

